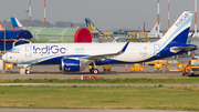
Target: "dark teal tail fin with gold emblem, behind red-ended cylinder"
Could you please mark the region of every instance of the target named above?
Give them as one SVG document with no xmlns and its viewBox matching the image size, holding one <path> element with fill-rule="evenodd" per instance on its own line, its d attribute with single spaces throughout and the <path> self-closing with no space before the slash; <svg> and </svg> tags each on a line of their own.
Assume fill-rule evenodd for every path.
<svg viewBox="0 0 199 112">
<path fill-rule="evenodd" d="M 101 30 L 98 30 L 96 28 L 96 26 L 88 19 L 85 18 L 85 23 L 86 23 L 86 28 L 91 31 L 91 32 L 102 32 Z"/>
</svg>

